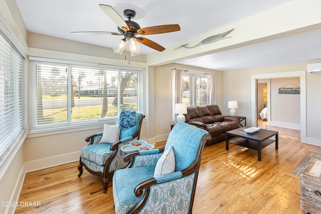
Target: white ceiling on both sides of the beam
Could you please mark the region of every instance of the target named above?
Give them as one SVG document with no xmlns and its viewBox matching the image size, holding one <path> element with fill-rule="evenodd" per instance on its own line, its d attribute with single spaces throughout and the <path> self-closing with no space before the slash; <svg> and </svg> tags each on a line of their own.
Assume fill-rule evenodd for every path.
<svg viewBox="0 0 321 214">
<path fill-rule="evenodd" d="M 29 32 L 113 48 L 123 36 L 72 35 L 74 31 L 118 32 L 98 6 L 112 6 L 123 17 L 136 12 L 132 21 L 141 28 L 179 24 L 181 31 L 145 36 L 165 48 L 253 16 L 290 0 L 16 0 Z M 200 4 L 202 3 L 202 4 Z M 141 54 L 153 49 L 140 44 Z M 321 59 L 321 29 L 229 51 L 177 62 L 197 67 L 234 70 Z"/>
</svg>

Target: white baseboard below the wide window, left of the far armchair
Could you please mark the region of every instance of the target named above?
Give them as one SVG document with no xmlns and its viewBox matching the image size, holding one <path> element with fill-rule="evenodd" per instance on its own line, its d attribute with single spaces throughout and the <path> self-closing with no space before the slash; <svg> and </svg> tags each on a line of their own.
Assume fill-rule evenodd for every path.
<svg viewBox="0 0 321 214">
<path fill-rule="evenodd" d="M 25 172 L 36 171 L 53 166 L 58 166 L 66 163 L 78 161 L 80 157 L 80 151 L 72 152 L 68 154 L 57 155 L 53 157 L 32 160 L 25 162 Z"/>
</svg>

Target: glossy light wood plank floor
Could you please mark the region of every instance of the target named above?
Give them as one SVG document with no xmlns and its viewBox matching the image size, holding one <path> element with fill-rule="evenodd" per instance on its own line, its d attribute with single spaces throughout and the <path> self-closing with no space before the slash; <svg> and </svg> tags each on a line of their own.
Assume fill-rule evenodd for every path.
<svg viewBox="0 0 321 214">
<path fill-rule="evenodd" d="M 226 151 L 224 141 L 204 148 L 193 213 L 303 213 L 300 179 L 291 172 L 321 147 L 300 143 L 297 130 L 268 129 L 279 131 L 279 149 L 265 147 L 261 162 L 253 150 L 230 144 Z M 111 183 L 104 194 L 101 178 L 86 170 L 79 178 L 77 165 L 27 173 L 19 201 L 41 206 L 19 206 L 16 213 L 115 213 Z"/>
</svg>

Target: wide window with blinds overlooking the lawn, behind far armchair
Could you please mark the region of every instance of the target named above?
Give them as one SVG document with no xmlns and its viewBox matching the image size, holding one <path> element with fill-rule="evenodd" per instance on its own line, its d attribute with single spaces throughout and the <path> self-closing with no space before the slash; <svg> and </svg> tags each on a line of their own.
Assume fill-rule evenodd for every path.
<svg viewBox="0 0 321 214">
<path fill-rule="evenodd" d="M 30 132 L 114 121 L 122 109 L 142 112 L 142 70 L 32 60 L 30 71 Z"/>
</svg>

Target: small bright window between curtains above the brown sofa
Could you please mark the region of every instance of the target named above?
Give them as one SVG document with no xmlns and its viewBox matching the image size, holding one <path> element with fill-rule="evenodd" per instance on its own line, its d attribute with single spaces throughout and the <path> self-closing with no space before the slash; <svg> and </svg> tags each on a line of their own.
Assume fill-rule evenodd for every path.
<svg viewBox="0 0 321 214">
<path fill-rule="evenodd" d="M 183 74 L 182 103 L 187 106 L 209 105 L 210 80 L 209 77 Z"/>
</svg>

